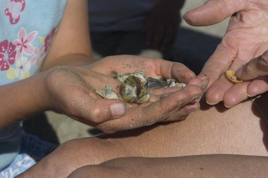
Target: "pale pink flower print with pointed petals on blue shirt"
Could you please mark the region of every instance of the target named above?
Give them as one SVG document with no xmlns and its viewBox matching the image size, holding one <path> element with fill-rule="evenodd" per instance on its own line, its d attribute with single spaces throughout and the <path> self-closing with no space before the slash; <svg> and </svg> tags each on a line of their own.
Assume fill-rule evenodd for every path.
<svg viewBox="0 0 268 178">
<path fill-rule="evenodd" d="M 18 39 L 14 41 L 14 44 L 18 48 L 17 60 L 20 60 L 23 53 L 27 55 L 33 54 L 33 47 L 30 43 L 35 40 L 37 34 L 38 33 L 36 31 L 33 31 L 27 35 L 25 29 L 23 27 L 20 28 Z"/>
</svg>

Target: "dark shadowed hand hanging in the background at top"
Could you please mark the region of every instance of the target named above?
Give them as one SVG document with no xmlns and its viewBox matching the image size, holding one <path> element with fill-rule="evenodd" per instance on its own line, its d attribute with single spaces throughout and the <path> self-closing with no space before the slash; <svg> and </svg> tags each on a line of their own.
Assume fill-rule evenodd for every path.
<svg viewBox="0 0 268 178">
<path fill-rule="evenodd" d="M 144 32 L 148 46 L 164 51 L 175 42 L 184 0 L 173 2 L 159 1 L 146 17 Z"/>
</svg>

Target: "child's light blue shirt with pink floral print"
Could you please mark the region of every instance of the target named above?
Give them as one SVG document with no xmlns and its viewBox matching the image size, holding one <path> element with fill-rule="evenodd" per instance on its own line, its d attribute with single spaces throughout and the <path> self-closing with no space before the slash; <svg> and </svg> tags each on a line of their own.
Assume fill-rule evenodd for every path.
<svg viewBox="0 0 268 178">
<path fill-rule="evenodd" d="M 0 85 L 40 71 L 66 1 L 0 0 Z M 0 130 L 0 170 L 19 150 L 21 130 L 18 130 L 19 124 Z"/>
</svg>

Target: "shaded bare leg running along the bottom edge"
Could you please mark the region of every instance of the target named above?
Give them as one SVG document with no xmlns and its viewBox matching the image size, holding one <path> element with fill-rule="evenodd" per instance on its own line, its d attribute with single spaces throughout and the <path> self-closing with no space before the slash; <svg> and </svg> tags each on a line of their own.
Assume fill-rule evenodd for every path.
<svg viewBox="0 0 268 178">
<path fill-rule="evenodd" d="M 119 158 L 85 166 L 69 178 L 90 177 L 267 177 L 268 157 L 199 155 L 175 158 Z"/>
</svg>

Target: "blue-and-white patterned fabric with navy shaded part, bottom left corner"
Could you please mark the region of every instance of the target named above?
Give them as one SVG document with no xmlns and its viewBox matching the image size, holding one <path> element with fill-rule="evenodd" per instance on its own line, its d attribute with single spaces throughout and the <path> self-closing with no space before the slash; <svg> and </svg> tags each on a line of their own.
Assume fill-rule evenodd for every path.
<svg viewBox="0 0 268 178">
<path fill-rule="evenodd" d="M 0 178 L 14 177 L 48 155 L 55 145 L 42 141 L 36 136 L 23 134 L 21 149 L 13 162 L 0 171 Z"/>
</svg>

